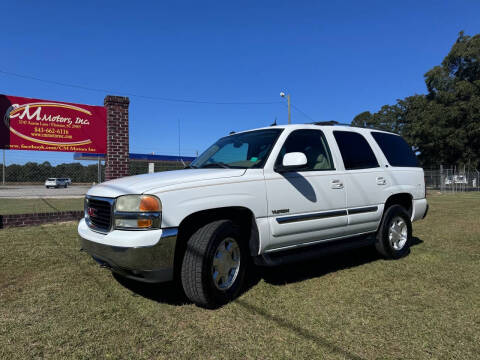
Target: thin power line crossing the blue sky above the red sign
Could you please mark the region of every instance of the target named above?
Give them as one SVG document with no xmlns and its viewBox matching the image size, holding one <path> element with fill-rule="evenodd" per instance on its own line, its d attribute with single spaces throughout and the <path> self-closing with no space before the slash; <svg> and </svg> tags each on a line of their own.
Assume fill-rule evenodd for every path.
<svg viewBox="0 0 480 360">
<path fill-rule="evenodd" d="M 169 97 L 162 97 L 162 96 L 148 96 L 148 95 L 134 94 L 134 93 L 125 92 L 125 91 L 113 91 L 113 90 L 93 88 L 93 87 L 77 85 L 77 84 L 69 84 L 69 83 L 64 83 L 64 82 L 60 82 L 60 81 L 41 79 L 41 78 L 38 78 L 38 77 L 35 77 L 35 76 L 22 75 L 22 74 L 13 73 L 13 72 L 4 71 L 4 70 L 0 70 L 0 73 L 4 74 L 4 75 L 9 75 L 9 76 L 15 76 L 15 77 L 22 78 L 22 79 L 39 81 L 39 82 L 43 82 L 43 83 L 46 83 L 46 84 L 53 84 L 53 85 L 70 87 L 70 88 L 75 88 L 75 89 L 88 90 L 88 91 L 96 91 L 96 92 L 102 92 L 102 93 L 107 93 L 107 94 L 108 93 L 110 93 L 110 94 L 112 94 L 112 93 L 113 94 L 122 94 L 122 95 L 127 95 L 127 96 L 130 96 L 130 97 L 137 97 L 137 98 L 142 98 L 142 99 L 147 99 L 147 100 L 156 100 L 156 101 L 166 101 L 166 102 L 175 102 L 175 103 L 189 103 L 189 104 L 210 104 L 210 105 L 272 105 L 272 104 L 282 103 L 281 101 L 250 101 L 250 102 L 249 101 L 204 101 L 204 100 L 193 100 L 193 99 L 169 98 Z"/>
</svg>

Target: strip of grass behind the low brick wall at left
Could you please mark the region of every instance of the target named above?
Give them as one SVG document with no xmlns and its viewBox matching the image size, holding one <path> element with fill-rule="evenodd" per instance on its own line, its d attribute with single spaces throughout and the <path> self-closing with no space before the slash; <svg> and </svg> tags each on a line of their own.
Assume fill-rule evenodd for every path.
<svg viewBox="0 0 480 360">
<path fill-rule="evenodd" d="M 83 198 L 0 199 L 0 215 L 83 210 Z"/>
</svg>

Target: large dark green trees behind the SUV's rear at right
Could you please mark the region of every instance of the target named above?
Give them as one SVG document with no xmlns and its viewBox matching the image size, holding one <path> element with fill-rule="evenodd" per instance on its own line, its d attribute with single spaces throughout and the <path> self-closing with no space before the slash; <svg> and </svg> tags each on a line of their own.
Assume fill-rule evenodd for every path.
<svg viewBox="0 0 480 360">
<path fill-rule="evenodd" d="M 461 32 L 441 65 L 425 74 L 426 95 L 357 115 L 352 125 L 401 134 L 424 166 L 480 166 L 480 34 Z"/>
</svg>

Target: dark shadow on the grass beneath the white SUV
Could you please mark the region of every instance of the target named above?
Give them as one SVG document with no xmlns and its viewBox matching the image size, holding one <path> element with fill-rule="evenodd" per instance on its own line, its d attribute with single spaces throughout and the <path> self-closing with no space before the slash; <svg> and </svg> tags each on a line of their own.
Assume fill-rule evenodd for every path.
<svg viewBox="0 0 480 360">
<path fill-rule="evenodd" d="M 423 243 L 421 239 L 413 237 L 411 246 L 414 247 L 421 243 Z M 367 246 L 330 254 L 328 256 L 319 256 L 312 260 L 288 265 L 274 267 L 256 267 L 252 265 L 245 278 L 245 285 L 239 296 L 255 287 L 261 279 L 271 285 L 281 286 L 321 277 L 329 273 L 361 266 L 380 259 L 382 259 L 382 257 L 375 251 L 373 246 Z M 122 286 L 132 291 L 134 296 L 143 296 L 147 299 L 170 305 L 185 305 L 191 303 L 186 298 L 179 281 L 148 284 L 130 280 L 117 274 L 113 274 L 113 277 Z"/>
</svg>

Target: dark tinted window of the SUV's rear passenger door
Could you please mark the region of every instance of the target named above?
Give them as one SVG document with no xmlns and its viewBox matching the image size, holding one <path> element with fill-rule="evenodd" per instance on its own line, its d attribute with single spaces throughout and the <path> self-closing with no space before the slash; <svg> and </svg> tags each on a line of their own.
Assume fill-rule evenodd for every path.
<svg viewBox="0 0 480 360">
<path fill-rule="evenodd" d="M 334 131 L 346 170 L 378 167 L 372 148 L 363 135 L 351 131 Z"/>
</svg>

